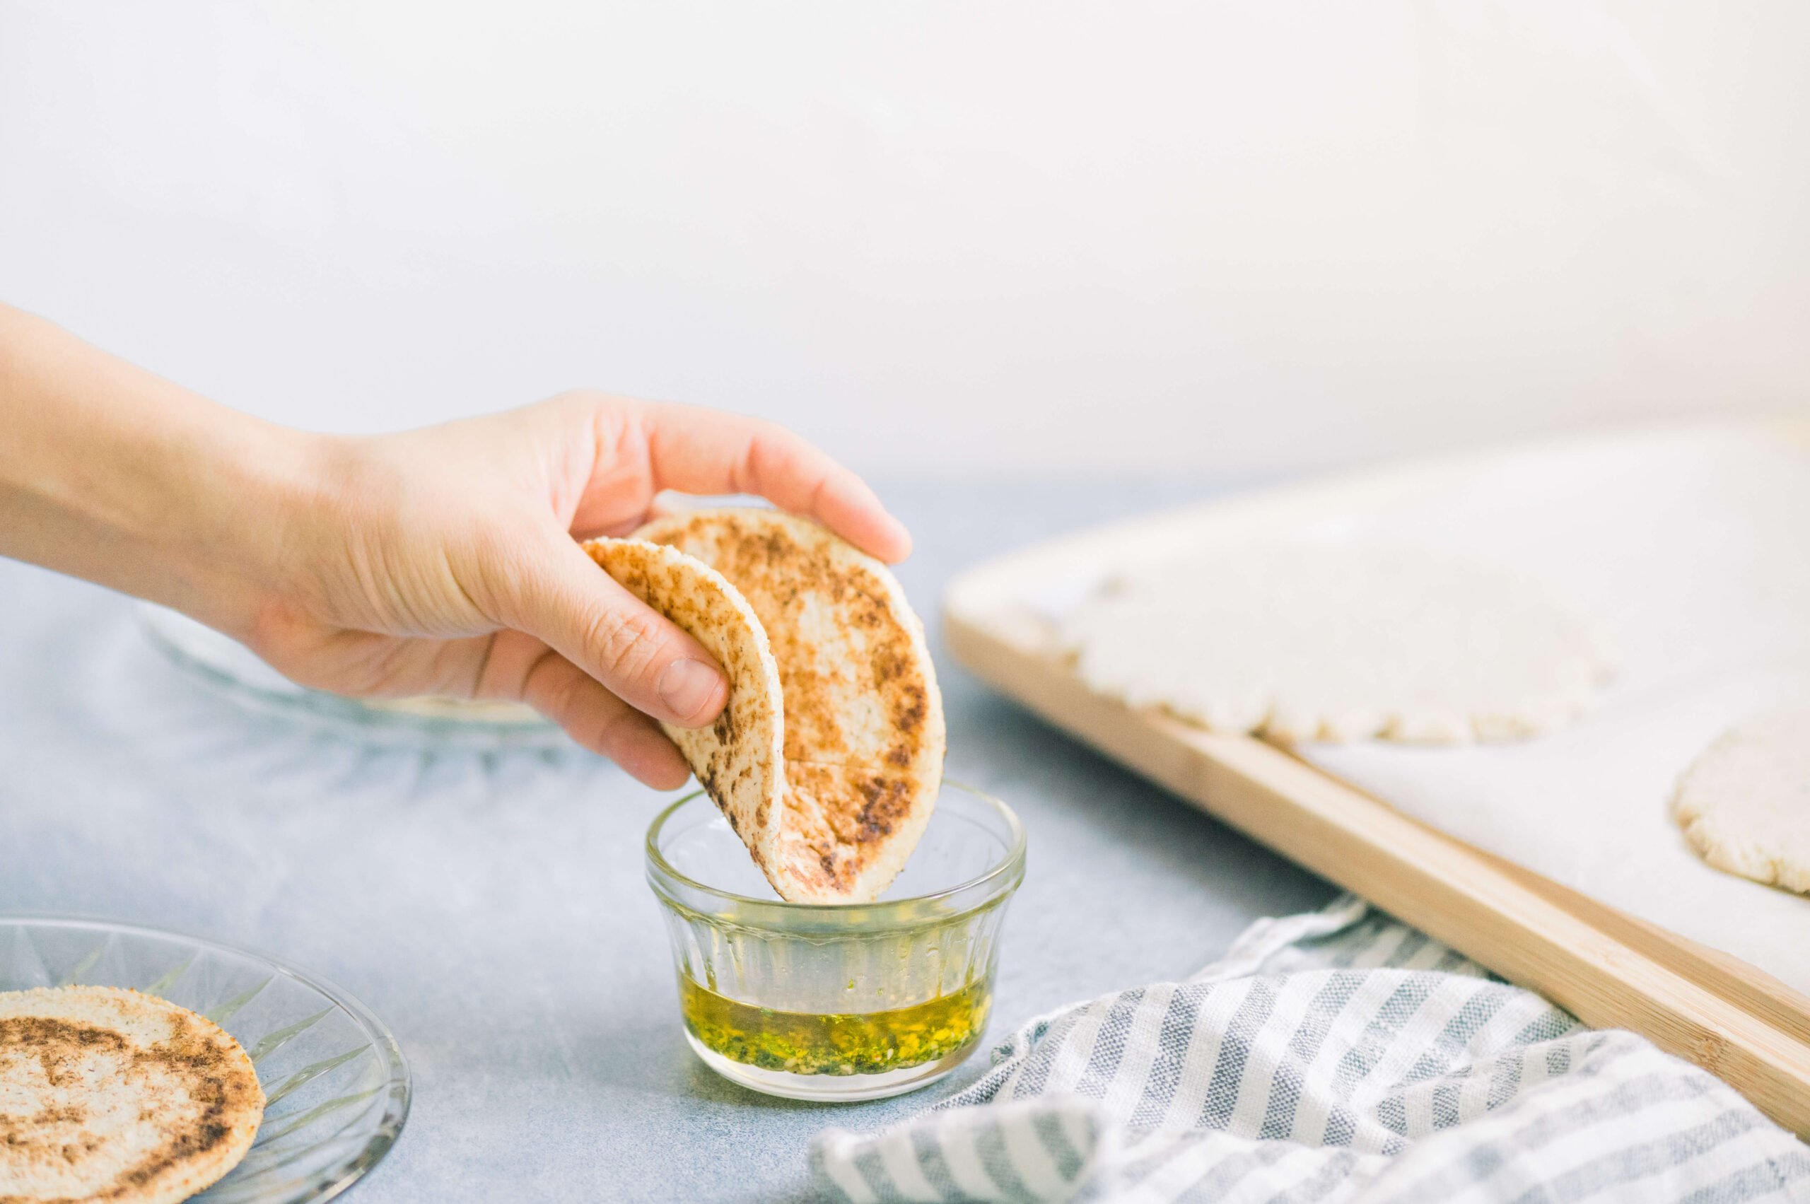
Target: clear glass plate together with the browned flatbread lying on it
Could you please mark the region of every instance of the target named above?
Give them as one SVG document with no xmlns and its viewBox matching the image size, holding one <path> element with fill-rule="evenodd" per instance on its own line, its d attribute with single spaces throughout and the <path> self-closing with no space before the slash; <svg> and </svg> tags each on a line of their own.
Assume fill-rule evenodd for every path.
<svg viewBox="0 0 1810 1204">
<path fill-rule="evenodd" d="M 0 1025 L 9 1204 L 201 1190 L 217 1204 L 310 1204 L 376 1166 L 409 1115 L 407 1063 L 364 1005 L 295 967 L 179 932 L 0 914 Z M 185 1086 L 190 1072 L 199 1081 Z M 90 1097 L 72 1095 L 78 1079 Z M 45 1179 L 40 1168 L 27 1184 L 33 1150 L 54 1150 L 67 1170 Z M 118 1173 L 100 1182 L 109 1168 Z"/>
</svg>

